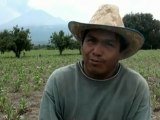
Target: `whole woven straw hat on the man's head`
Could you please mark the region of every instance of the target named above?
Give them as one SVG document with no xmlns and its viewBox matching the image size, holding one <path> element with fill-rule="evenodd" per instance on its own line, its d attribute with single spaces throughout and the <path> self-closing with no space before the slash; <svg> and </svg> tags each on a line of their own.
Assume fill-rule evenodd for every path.
<svg viewBox="0 0 160 120">
<path fill-rule="evenodd" d="M 104 29 L 121 35 L 127 43 L 127 48 L 121 52 L 120 59 L 132 56 L 144 43 L 144 37 L 140 32 L 124 27 L 119 9 L 115 5 L 102 5 L 89 23 L 70 21 L 68 28 L 74 37 L 80 41 L 83 39 L 84 32 L 90 29 Z"/>
</svg>

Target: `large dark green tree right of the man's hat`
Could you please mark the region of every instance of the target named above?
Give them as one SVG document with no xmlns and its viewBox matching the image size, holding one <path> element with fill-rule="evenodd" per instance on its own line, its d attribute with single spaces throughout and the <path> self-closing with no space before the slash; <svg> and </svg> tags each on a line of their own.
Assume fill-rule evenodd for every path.
<svg viewBox="0 0 160 120">
<path fill-rule="evenodd" d="M 143 49 L 157 49 L 160 46 L 160 21 L 153 19 L 152 14 L 127 14 L 123 17 L 123 22 L 126 27 L 136 29 L 144 35 Z"/>
</svg>

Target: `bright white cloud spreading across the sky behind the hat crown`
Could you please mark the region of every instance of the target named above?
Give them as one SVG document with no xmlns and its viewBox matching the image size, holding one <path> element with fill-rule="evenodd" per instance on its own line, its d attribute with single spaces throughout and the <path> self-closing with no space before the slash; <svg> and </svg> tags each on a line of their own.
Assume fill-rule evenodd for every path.
<svg viewBox="0 0 160 120">
<path fill-rule="evenodd" d="M 87 22 L 102 4 L 115 4 L 119 6 L 120 14 L 123 17 L 128 13 L 151 13 L 159 9 L 157 3 L 150 0 L 29 0 L 29 6 L 36 9 L 42 9 L 53 16 L 61 17 L 66 20 L 78 20 Z M 148 7 L 154 6 L 154 7 Z M 156 10 L 155 10 L 156 9 Z M 160 10 L 160 9 L 159 9 Z M 160 18 L 160 17 L 159 17 Z"/>
</svg>

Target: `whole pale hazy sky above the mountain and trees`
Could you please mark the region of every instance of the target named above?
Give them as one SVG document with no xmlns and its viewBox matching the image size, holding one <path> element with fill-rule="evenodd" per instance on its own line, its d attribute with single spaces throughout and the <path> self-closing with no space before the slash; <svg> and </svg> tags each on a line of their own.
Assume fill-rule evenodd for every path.
<svg viewBox="0 0 160 120">
<path fill-rule="evenodd" d="M 158 0 L 0 0 L 0 24 L 30 9 L 41 9 L 66 21 L 88 22 L 95 10 L 105 3 L 119 6 L 122 17 L 139 12 L 151 13 L 160 20 Z"/>
</svg>

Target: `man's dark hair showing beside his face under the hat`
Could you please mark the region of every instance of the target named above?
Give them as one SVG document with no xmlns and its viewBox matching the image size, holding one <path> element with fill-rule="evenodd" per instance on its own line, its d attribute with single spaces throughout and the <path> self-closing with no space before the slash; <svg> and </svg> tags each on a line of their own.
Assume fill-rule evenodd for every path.
<svg viewBox="0 0 160 120">
<path fill-rule="evenodd" d="M 84 42 L 85 36 L 87 35 L 87 33 L 90 31 L 90 29 L 85 30 L 82 32 L 82 44 Z M 122 35 L 119 35 L 118 33 L 116 33 L 117 39 L 119 40 L 120 43 L 120 52 L 122 52 L 123 50 L 125 50 L 127 48 L 127 42 L 125 40 L 125 38 Z"/>
</svg>

